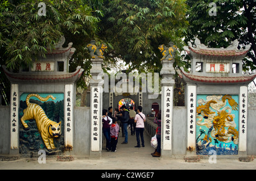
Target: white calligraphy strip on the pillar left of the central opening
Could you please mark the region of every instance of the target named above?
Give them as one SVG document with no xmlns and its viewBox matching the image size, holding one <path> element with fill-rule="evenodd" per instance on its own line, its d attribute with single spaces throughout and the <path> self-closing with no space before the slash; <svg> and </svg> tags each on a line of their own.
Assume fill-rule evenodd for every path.
<svg viewBox="0 0 256 181">
<path fill-rule="evenodd" d="M 91 150 L 100 151 L 102 87 L 91 86 L 90 90 Z"/>
</svg>

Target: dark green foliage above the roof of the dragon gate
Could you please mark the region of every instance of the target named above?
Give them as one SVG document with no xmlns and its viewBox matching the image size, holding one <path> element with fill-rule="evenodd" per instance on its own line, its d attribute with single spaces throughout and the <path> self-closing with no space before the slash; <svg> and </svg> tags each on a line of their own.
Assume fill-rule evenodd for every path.
<svg viewBox="0 0 256 181">
<path fill-rule="evenodd" d="M 189 27 L 185 41 L 198 37 L 201 43 L 209 47 L 226 48 L 238 39 L 238 48 L 251 45 L 243 69 L 256 69 L 256 1 L 188 0 L 187 3 Z"/>
</svg>

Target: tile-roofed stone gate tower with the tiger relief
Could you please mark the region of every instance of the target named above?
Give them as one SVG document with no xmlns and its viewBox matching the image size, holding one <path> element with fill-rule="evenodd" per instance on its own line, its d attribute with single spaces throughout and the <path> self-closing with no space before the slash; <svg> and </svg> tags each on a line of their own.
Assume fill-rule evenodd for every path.
<svg viewBox="0 0 256 181">
<path fill-rule="evenodd" d="M 69 73 L 72 43 L 63 48 L 61 37 L 56 49 L 39 57 L 32 67 L 18 73 L 3 66 L 11 82 L 10 154 L 63 153 L 73 149 L 73 117 L 76 81 L 84 71 Z"/>
</svg>

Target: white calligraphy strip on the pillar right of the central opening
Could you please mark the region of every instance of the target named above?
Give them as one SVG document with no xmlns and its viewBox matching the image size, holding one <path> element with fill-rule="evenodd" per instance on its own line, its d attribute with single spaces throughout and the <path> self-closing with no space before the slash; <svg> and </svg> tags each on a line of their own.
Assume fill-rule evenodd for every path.
<svg viewBox="0 0 256 181">
<path fill-rule="evenodd" d="M 163 150 L 172 149 L 172 111 L 173 111 L 173 90 L 172 86 L 162 88 L 162 140 Z"/>
</svg>

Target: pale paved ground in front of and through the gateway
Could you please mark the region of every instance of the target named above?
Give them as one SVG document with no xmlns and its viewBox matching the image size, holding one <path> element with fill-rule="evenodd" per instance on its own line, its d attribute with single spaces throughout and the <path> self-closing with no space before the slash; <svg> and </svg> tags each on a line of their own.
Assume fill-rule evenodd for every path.
<svg viewBox="0 0 256 181">
<path fill-rule="evenodd" d="M 129 130 L 130 131 L 130 130 Z M 47 158 L 46 163 L 38 163 L 38 159 L 20 158 L 15 161 L 0 161 L 0 170 L 5 169 L 76 169 L 76 170 L 255 170 L 256 160 L 240 162 L 238 159 L 217 159 L 217 163 L 209 163 L 208 159 L 199 162 L 185 162 L 184 159 L 154 158 L 150 153 L 154 148 L 150 146 L 150 137 L 144 132 L 145 147 L 134 148 L 137 145 L 136 136 L 129 132 L 128 144 L 122 145 L 124 140 L 119 136 L 117 152 L 108 152 L 102 149 L 100 159 L 79 159 L 60 162 L 56 158 Z M 104 144 L 105 147 L 105 144 Z"/>
</svg>

